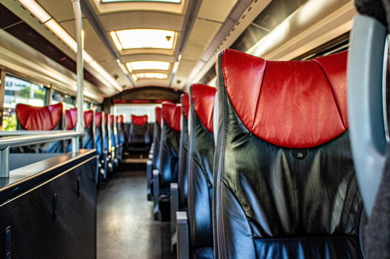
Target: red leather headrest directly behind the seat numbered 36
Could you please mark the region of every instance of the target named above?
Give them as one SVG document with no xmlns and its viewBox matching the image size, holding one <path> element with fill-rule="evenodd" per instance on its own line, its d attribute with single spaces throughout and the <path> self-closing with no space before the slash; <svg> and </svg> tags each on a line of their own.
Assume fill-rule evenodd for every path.
<svg viewBox="0 0 390 259">
<path fill-rule="evenodd" d="M 203 126 L 211 133 L 214 133 L 212 115 L 214 114 L 214 99 L 217 90 L 214 87 L 198 83 L 191 85 L 190 91 L 196 115 L 198 115 Z"/>
</svg>

